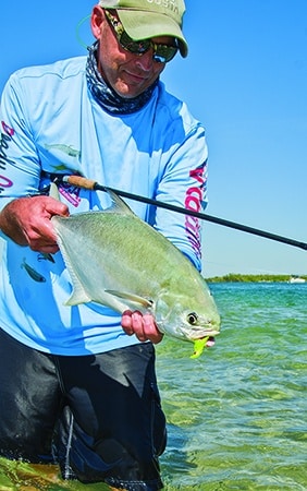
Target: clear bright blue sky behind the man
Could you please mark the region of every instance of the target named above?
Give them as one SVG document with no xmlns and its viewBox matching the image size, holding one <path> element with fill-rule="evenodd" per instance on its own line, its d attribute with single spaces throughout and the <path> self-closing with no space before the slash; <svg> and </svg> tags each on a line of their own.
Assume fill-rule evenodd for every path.
<svg viewBox="0 0 307 491">
<path fill-rule="evenodd" d="M 93 4 L 3 2 L 0 91 L 15 69 L 86 53 Z M 206 127 L 207 213 L 307 242 L 307 1 L 186 7 L 189 56 L 162 79 Z M 205 223 L 204 274 L 226 273 L 307 274 L 307 251 Z"/>
</svg>

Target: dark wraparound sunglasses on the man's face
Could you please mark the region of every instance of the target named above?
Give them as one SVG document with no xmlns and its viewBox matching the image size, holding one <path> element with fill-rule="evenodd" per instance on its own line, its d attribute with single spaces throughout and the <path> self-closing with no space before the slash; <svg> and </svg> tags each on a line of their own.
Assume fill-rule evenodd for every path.
<svg viewBox="0 0 307 491">
<path fill-rule="evenodd" d="M 133 55 L 142 56 L 146 53 L 149 49 L 152 49 L 152 60 L 158 63 L 168 63 L 171 61 L 177 52 L 177 46 L 162 45 L 160 43 L 155 43 L 151 39 L 132 39 L 125 32 L 123 24 L 118 17 L 111 14 L 109 10 L 105 10 L 106 17 L 113 28 L 114 34 L 118 38 L 118 43 L 123 49 Z"/>
</svg>

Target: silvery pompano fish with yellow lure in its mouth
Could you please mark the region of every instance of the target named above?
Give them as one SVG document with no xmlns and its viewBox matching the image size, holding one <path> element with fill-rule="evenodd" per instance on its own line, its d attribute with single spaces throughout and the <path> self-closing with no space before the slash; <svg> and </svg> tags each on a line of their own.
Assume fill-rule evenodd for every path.
<svg viewBox="0 0 307 491">
<path fill-rule="evenodd" d="M 191 261 L 165 237 L 110 193 L 112 206 L 53 216 L 73 292 L 67 306 L 98 302 L 123 313 L 151 312 L 159 331 L 195 343 L 198 357 L 220 331 L 209 288 Z"/>
</svg>

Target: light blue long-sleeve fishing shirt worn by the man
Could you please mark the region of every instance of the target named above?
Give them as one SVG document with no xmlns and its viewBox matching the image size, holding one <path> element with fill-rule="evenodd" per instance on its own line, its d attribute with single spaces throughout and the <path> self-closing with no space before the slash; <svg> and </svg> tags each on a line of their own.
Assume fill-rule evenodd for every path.
<svg viewBox="0 0 307 491">
<path fill-rule="evenodd" d="M 103 110 L 87 88 L 86 57 L 20 70 L 0 110 L 0 207 L 35 194 L 47 173 L 81 173 L 131 193 L 200 211 L 206 204 L 205 130 L 159 82 L 132 115 Z M 60 189 L 70 213 L 101 209 L 103 192 Z M 194 217 L 128 202 L 200 270 L 200 226 Z M 138 343 L 103 306 L 67 307 L 72 285 L 61 253 L 53 261 L 1 235 L 1 327 L 23 344 L 58 355 L 88 355 Z"/>
</svg>

